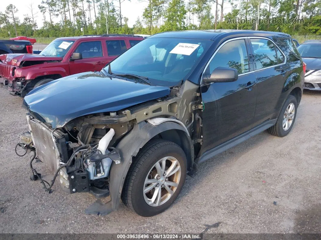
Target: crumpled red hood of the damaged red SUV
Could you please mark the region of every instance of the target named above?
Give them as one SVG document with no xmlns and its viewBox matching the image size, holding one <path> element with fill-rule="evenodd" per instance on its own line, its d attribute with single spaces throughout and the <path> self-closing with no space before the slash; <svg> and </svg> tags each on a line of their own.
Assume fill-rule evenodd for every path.
<svg viewBox="0 0 321 240">
<path fill-rule="evenodd" d="M 25 61 L 61 61 L 61 60 L 62 60 L 61 57 L 47 57 L 39 54 L 10 53 L 10 54 L 0 55 L 0 61 L 13 66 L 20 66 L 20 64 Z"/>
</svg>

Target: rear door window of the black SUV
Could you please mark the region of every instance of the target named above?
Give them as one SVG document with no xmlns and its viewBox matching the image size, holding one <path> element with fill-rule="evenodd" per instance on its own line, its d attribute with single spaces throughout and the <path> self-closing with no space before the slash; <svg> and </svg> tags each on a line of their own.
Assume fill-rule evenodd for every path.
<svg viewBox="0 0 321 240">
<path fill-rule="evenodd" d="M 250 40 L 254 51 L 256 69 L 270 67 L 278 63 L 273 42 L 261 38 L 251 38 Z"/>
</svg>

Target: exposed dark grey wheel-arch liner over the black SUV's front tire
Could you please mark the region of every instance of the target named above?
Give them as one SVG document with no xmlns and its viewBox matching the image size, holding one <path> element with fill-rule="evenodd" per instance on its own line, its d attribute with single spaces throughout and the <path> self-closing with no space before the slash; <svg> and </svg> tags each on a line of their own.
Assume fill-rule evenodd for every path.
<svg viewBox="0 0 321 240">
<path fill-rule="evenodd" d="M 109 172 L 109 192 L 111 200 L 108 202 L 108 208 L 110 211 L 116 210 L 119 205 L 125 178 L 132 164 L 133 157 L 137 155 L 139 150 L 150 139 L 166 130 L 173 129 L 183 131 L 188 137 L 189 144 L 193 148 L 191 155 L 193 155 L 192 159 L 194 161 L 194 147 L 186 128 L 170 120 L 162 122 L 159 125 L 152 125 L 145 121 L 135 124 L 134 128 L 119 142 L 116 147 L 120 153 L 121 161 L 119 164 L 115 164 L 113 162 Z M 189 156 L 187 156 L 187 158 L 188 157 Z"/>
</svg>

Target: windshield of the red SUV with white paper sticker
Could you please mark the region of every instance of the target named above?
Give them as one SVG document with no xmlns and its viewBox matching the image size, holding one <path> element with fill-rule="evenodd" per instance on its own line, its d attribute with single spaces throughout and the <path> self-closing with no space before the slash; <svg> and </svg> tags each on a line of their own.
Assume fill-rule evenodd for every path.
<svg viewBox="0 0 321 240">
<path fill-rule="evenodd" d="M 74 44 L 70 40 L 53 40 L 39 55 L 48 57 L 64 57 L 69 48 Z"/>
</svg>

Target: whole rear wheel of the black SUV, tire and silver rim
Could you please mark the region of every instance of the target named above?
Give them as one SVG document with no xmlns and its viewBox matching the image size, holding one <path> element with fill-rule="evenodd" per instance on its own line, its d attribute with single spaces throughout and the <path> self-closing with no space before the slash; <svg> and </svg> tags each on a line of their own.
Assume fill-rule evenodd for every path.
<svg viewBox="0 0 321 240">
<path fill-rule="evenodd" d="M 269 128 L 268 132 L 277 137 L 288 135 L 297 116 L 297 108 L 297 99 L 293 95 L 289 95 L 275 125 Z"/>
</svg>

